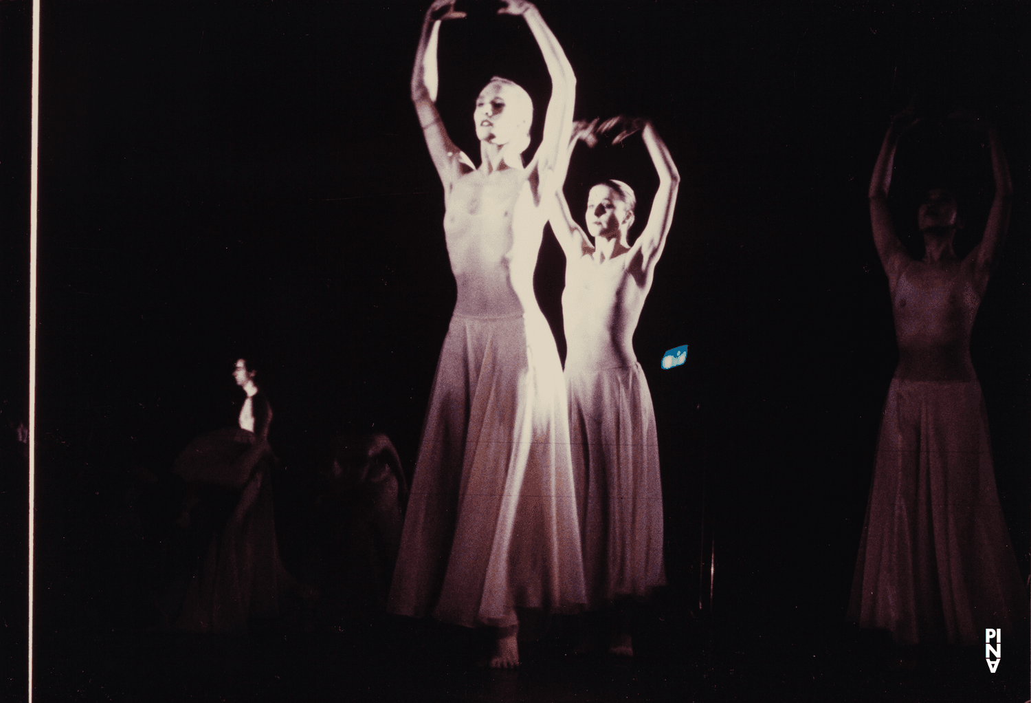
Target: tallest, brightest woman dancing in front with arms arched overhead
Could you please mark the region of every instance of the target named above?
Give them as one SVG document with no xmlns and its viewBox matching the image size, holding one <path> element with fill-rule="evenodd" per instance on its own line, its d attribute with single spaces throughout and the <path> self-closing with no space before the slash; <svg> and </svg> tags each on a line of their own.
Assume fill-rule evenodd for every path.
<svg viewBox="0 0 1031 703">
<path fill-rule="evenodd" d="M 458 301 L 437 364 L 388 609 L 497 628 L 491 666 L 519 664 L 517 607 L 584 603 L 565 389 L 555 338 L 533 293 L 550 201 L 560 184 L 575 78 L 537 8 L 522 15 L 552 77 L 543 140 L 528 166 L 530 96 L 493 78 L 473 113 L 474 167 L 440 123 L 437 0 L 423 23 L 411 99 L 444 186 L 444 235 Z"/>
</svg>

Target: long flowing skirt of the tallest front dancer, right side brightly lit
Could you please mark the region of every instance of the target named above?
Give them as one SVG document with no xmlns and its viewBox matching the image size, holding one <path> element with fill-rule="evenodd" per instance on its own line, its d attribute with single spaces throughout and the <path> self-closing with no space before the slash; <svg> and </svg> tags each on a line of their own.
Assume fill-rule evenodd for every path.
<svg viewBox="0 0 1031 703">
<path fill-rule="evenodd" d="M 585 603 L 565 386 L 541 315 L 452 318 L 388 609 L 475 627 Z"/>
</svg>

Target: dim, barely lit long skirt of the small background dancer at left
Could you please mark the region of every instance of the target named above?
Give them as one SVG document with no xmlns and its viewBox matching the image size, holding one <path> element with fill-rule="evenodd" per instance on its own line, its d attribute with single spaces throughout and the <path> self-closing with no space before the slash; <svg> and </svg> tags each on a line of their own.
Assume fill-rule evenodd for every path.
<svg viewBox="0 0 1031 703">
<path fill-rule="evenodd" d="M 200 499 L 191 511 L 197 561 L 174 628 L 243 632 L 278 614 L 281 572 L 269 461 L 255 437 L 223 429 L 199 437 L 173 472 Z"/>
</svg>

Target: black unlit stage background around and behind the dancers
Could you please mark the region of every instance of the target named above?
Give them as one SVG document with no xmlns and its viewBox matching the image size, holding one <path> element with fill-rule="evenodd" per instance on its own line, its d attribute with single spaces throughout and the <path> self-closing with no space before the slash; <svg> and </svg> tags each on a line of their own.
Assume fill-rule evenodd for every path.
<svg viewBox="0 0 1031 703">
<path fill-rule="evenodd" d="M 534 97 L 533 149 L 550 88 L 539 51 L 522 20 L 470 4 L 472 17 L 441 31 L 444 123 L 478 160 L 472 100 L 504 75 Z M 1009 241 L 972 354 L 1028 572 L 1031 26 L 1019 3 L 776 4 L 539 3 L 576 71 L 576 117 L 651 117 L 683 177 L 634 341 L 659 423 L 664 612 L 688 632 L 702 621 L 689 614 L 701 598 L 739 672 L 789 686 L 811 674 L 834 691 L 847 679 L 822 659 L 763 662 L 787 642 L 843 629 L 897 358 L 866 190 L 889 118 L 913 93 L 994 118 L 1010 160 Z M 4 3 L 5 42 L 26 8 Z M 68 700 L 60 692 L 72 689 L 93 700 L 82 637 L 147 625 L 144 537 L 161 516 L 132 491 L 144 472 L 160 485 L 195 436 L 235 422 L 238 356 L 256 359 L 275 411 L 289 567 L 299 568 L 298 525 L 335 433 L 386 432 L 412 470 L 455 300 L 442 189 L 408 99 L 424 10 L 44 2 L 38 700 Z M 9 75 L 0 73 L 4 95 L 21 95 Z M 0 161 L 18 184 L 27 169 L 9 170 L 6 154 L 24 143 L 28 113 L 2 109 Z M 578 148 L 566 186 L 578 219 L 602 178 L 637 190 L 642 225 L 657 180 L 639 137 Z M 962 130 L 921 127 L 896 161 L 900 227 L 914 229 L 913 194 L 942 181 L 969 205 L 968 250 L 992 193 L 987 148 Z M 14 301 L 4 324 L 16 340 L 27 321 L 26 193 L 15 186 L 3 200 Z M 545 232 L 536 288 L 564 352 L 562 279 Z M 662 353 L 681 344 L 687 364 L 662 371 Z M 11 347 L 5 360 L 24 368 Z M 22 402 L 9 386 L 5 397 Z M 711 604 L 700 566 L 708 537 Z M 1027 657 L 1013 634 L 1017 669 Z M 677 700 L 705 689 L 688 682 L 688 666 L 664 674 L 683 686 Z M 117 690 L 109 667 L 101 678 Z M 969 667 L 970 680 L 988 680 L 980 654 Z M 1013 696 L 1026 693 L 1018 680 Z"/>
</svg>

